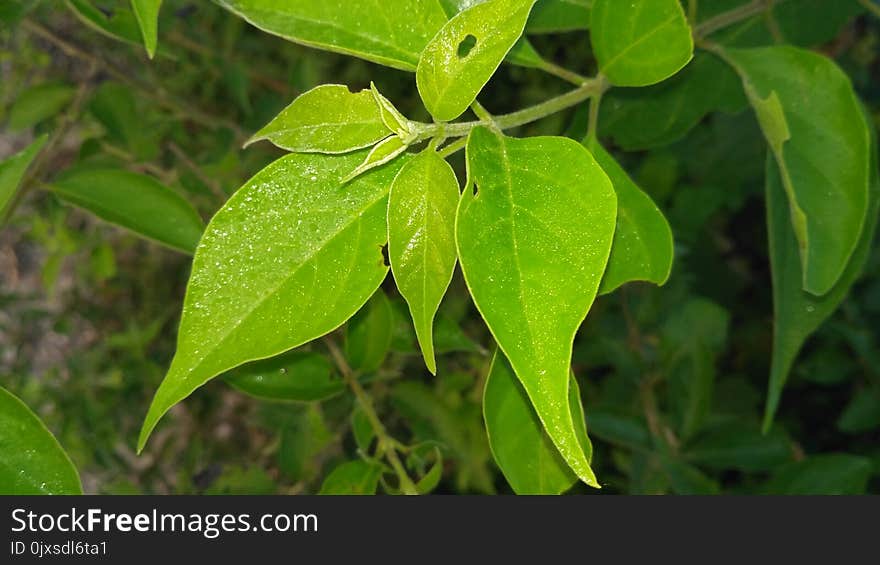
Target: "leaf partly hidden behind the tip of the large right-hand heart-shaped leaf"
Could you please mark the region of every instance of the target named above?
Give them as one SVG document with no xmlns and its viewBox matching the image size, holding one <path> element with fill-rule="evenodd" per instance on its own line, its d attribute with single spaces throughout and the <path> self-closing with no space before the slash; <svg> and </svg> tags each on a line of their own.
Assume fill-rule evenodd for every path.
<svg viewBox="0 0 880 565">
<path fill-rule="evenodd" d="M 589 461 L 593 447 L 587 437 L 580 390 L 573 377 L 568 405 L 581 449 Z M 577 482 L 577 476 L 544 431 L 507 359 L 497 351 L 483 389 L 483 417 L 492 455 L 515 493 L 562 494 Z"/>
</svg>

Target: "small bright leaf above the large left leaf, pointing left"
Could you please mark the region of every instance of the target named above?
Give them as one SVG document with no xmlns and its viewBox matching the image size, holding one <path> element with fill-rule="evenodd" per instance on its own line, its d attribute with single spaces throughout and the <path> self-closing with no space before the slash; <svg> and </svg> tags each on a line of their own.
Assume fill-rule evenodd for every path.
<svg viewBox="0 0 880 565">
<path fill-rule="evenodd" d="M 347 153 L 389 135 L 369 90 L 323 84 L 298 96 L 245 146 L 267 139 L 296 153 Z"/>
</svg>

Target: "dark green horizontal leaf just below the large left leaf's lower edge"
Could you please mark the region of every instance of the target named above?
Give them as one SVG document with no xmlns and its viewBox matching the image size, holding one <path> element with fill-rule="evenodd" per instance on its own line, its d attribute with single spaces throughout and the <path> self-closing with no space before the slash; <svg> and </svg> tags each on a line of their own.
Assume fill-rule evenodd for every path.
<svg viewBox="0 0 880 565">
<path fill-rule="evenodd" d="M 238 390 L 265 400 L 312 402 L 342 393 L 345 382 L 333 374 L 326 357 L 308 351 L 288 351 L 254 361 L 223 375 Z"/>
</svg>

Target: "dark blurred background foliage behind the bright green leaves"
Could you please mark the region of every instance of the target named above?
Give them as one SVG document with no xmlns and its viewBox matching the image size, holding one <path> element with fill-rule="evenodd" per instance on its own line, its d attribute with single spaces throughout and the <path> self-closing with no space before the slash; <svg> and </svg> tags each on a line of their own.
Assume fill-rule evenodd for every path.
<svg viewBox="0 0 880 565">
<path fill-rule="evenodd" d="M 135 455 L 138 428 L 174 351 L 189 259 L 41 187 L 73 165 L 123 168 L 172 187 L 208 219 L 281 155 L 269 144 L 241 146 L 297 94 L 373 80 L 407 116 L 427 120 L 413 76 L 293 45 L 210 2 L 188 0 L 165 1 L 150 62 L 128 6 L 0 5 L 0 157 L 51 136 L 0 232 L 2 385 L 56 434 L 86 492 L 317 492 L 338 465 L 373 448 L 320 343 L 272 370 L 291 362 L 292 370 L 317 371 L 329 398 L 265 401 L 230 386 L 234 378 L 217 379 L 176 406 Z M 880 20 L 853 14 L 826 22 L 833 33 L 800 42 L 848 72 L 876 126 Z M 595 71 L 586 32 L 533 43 L 562 66 Z M 696 99 L 738 88 L 698 86 Z M 659 99 L 658 88 L 666 87 L 645 96 Z M 502 113 L 565 89 L 538 71 L 504 66 L 481 100 Z M 627 96 L 609 95 L 600 133 L 618 148 L 658 146 L 616 155 L 669 218 L 676 263 L 663 288 L 632 284 L 599 299 L 575 342 L 601 492 L 880 493 L 880 247 L 844 306 L 810 340 L 775 427 L 762 435 L 772 304 L 759 128 L 731 91 L 729 102 L 713 106 L 730 113 L 698 116 L 684 137 L 646 141 L 639 136 L 653 125 L 626 115 L 620 101 Z M 585 110 L 517 134 L 581 138 Z M 462 172 L 461 155 L 453 162 Z M 422 364 L 390 276 L 386 283 L 389 303 L 380 307 L 390 308 L 359 315 L 346 332 L 351 341 L 367 324 L 361 335 L 390 336 L 378 351 L 361 352 L 373 359 L 360 360 L 372 365 L 364 386 L 385 425 L 414 446 L 405 463 L 436 493 L 510 492 L 481 414 L 494 346 L 460 273 L 441 307 L 436 378 Z M 579 485 L 572 492 L 595 491 Z"/>
</svg>

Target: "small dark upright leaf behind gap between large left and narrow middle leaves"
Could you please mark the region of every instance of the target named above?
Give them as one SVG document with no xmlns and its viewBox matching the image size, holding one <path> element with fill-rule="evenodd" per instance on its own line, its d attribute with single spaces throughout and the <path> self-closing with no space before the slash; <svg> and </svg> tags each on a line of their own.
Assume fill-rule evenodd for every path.
<svg viewBox="0 0 880 565">
<path fill-rule="evenodd" d="M 391 349 L 393 332 L 391 305 L 378 290 L 346 327 L 345 356 L 351 368 L 363 373 L 377 371 Z"/>
</svg>

